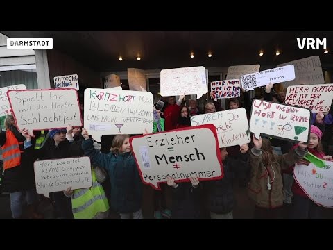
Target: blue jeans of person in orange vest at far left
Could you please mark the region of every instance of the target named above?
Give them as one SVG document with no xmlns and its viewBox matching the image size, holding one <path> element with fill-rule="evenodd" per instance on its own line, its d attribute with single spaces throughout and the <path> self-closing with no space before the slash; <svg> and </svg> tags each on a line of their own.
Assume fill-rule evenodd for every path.
<svg viewBox="0 0 333 250">
<path fill-rule="evenodd" d="M 31 190 L 24 190 L 19 192 L 10 193 L 10 210 L 12 210 L 13 218 L 20 218 L 23 214 L 23 206 L 24 206 L 24 192 L 26 192 L 26 203 L 28 205 L 32 205 L 37 201 L 37 192 L 35 188 Z"/>
</svg>

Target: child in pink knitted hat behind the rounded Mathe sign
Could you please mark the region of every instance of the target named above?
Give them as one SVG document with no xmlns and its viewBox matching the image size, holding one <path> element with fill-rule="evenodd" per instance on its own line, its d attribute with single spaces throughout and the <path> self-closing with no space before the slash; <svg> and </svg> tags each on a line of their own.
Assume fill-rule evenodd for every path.
<svg viewBox="0 0 333 250">
<path fill-rule="evenodd" d="M 323 160 L 332 160 L 332 156 L 325 156 L 323 153 L 323 147 L 321 145 L 321 137 L 323 133 L 314 125 L 311 125 L 311 133 L 309 144 L 307 149 L 310 153 Z M 302 162 L 303 163 L 303 162 Z M 294 166 L 293 166 L 294 167 Z M 293 203 L 291 205 L 291 218 L 296 219 L 318 219 L 321 218 L 321 212 L 323 208 L 316 205 L 314 201 L 311 201 L 307 194 L 300 188 L 300 185 L 296 181 L 293 182 Z"/>
</svg>

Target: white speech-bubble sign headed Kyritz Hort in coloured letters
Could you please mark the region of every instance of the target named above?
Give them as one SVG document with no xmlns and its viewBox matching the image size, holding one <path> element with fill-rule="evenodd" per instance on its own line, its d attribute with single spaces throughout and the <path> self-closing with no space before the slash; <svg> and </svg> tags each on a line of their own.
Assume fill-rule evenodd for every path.
<svg viewBox="0 0 333 250">
<path fill-rule="evenodd" d="M 130 90 L 87 88 L 85 128 L 94 140 L 101 135 L 153 131 L 153 94 Z"/>
</svg>

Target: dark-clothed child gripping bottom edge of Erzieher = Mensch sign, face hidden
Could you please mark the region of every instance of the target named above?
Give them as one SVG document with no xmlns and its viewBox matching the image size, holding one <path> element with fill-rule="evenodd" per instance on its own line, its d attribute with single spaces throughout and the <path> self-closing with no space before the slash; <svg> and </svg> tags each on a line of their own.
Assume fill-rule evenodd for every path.
<svg viewBox="0 0 333 250">
<path fill-rule="evenodd" d="M 191 183 L 175 183 L 175 179 L 167 177 L 172 187 L 172 219 L 198 219 L 200 217 L 200 188 L 197 177 L 190 177 Z"/>
</svg>

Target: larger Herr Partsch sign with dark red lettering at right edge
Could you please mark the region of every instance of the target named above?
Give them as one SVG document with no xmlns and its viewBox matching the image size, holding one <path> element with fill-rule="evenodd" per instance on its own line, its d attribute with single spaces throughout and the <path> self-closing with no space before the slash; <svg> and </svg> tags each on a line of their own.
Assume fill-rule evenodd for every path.
<svg viewBox="0 0 333 250">
<path fill-rule="evenodd" d="M 284 103 L 318 113 L 330 111 L 332 99 L 333 84 L 293 85 L 287 88 Z"/>
</svg>

